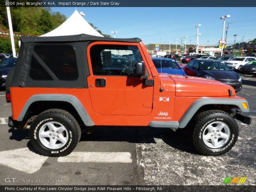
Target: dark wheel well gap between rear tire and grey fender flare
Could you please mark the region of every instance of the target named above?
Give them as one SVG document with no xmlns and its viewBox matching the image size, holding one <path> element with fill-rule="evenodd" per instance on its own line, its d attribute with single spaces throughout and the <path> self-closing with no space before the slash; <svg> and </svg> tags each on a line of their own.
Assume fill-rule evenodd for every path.
<svg viewBox="0 0 256 192">
<path fill-rule="evenodd" d="M 84 122 L 77 113 L 75 107 L 71 103 L 65 101 L 36 101 L 29 106 L 24 119 L 28 120 L 48 109 L 63 109 L 68 111 L 72 116 L 74 116 L 80 126 L 85 127 Z"/>
</svg>

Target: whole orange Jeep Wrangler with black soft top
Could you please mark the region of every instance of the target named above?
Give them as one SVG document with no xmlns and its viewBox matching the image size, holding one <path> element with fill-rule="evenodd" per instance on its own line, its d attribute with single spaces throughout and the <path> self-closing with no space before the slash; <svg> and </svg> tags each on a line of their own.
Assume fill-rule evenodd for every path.
<svg viewBox="0 0 256 192">
<path fill-rule="evenodd" d="M 45 156 L 70 154 L 81 129 L 95 125 L 188 127 L 198 151 L 216 156 L 238 138 L 234 118 L 251 123 L 231 86 L 159 74 L 139 38 L 21 37 L 6 100 L 9 126 L 30 124 L 31 143 Z"/>
</svg>

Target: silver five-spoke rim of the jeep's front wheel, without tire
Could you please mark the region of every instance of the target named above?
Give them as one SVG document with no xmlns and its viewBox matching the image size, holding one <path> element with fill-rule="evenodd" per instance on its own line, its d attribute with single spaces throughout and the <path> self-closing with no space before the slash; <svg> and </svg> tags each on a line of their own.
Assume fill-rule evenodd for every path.
<svg viewBox="0 0 256 192">
<path fill-rule="evenodd" d="M 220 148 L 225 145 L 230 137 L 227 124 L 215 121 L 205 127 L 203 132 L 204 144 L 210 148 Z"/>
</svg>

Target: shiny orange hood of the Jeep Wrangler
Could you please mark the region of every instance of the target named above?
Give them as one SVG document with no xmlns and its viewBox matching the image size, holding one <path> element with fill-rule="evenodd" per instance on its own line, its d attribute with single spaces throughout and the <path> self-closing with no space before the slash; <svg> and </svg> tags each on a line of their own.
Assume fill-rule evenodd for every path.
<svg viewBox="0 0 256 192">
<path fill-rule="evenodd" d="M 167 78 L 169 76 L 169 79 Z M 162 84 L 165 90 L 172 90 L 175 82 L 175 96 L 186 97 L 221 97 L 229 96 L 228 90 L 233 91 L 233 95 L 236 95 L 233 87 L 223 84 L 219 81 L 210 80 L 201 77 L 194 76 L 179 76 L 179 75 L 160 75 Z"/>
</svg>

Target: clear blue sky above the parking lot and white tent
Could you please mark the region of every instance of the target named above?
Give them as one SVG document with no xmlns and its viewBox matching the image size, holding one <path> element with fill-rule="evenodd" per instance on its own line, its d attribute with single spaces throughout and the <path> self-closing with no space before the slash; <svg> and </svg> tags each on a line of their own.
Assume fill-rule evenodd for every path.
<svg viewBox="0 0 256 192">
<path fill-rule="evenodd" d="M 75 7 L 52 7 L 67 18 Z M 144 44 L 196 44 L 196 25 L 199 27 L 199 45 L 216 46 L 222 37 L 223 20 L 221 16 L 230 15 L 227 43 L 252 40 L 256 38 L 255 7 L 77 7 L 84 12 L 84 19 L 93 23 L 104 34 L 117 31 L 116 38 L 139 37 Z M 226 29 L 225 29 L 226 30 Z M 244 37 L 243 37 L 244 36 Z M 225 36 L 224 36 L 225 38 Z M 209 42 L 208 42 L 209 41 Z"/>
</svg>

